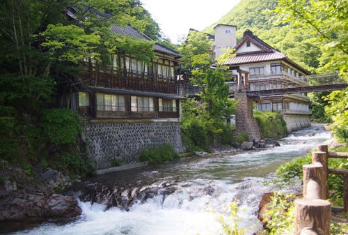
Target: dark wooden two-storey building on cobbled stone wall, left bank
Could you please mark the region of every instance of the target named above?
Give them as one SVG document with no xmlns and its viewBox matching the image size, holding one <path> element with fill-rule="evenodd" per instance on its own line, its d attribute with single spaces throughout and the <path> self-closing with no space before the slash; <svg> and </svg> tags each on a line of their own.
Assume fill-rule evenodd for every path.
<svg viewBox="0 0 348 235">
<path fill-rule="evenodd" d="M 150 40 L 132 26 L 112 26 L 118 34 Z M 86 58 L 78 84 L 61 100 L 79 113 L 83 139 L 97 169 L 135 162 L 139 151 L 171 144 L 184 151 L 176 71 L 180 54 L 155 43 L 156 59 L 145 63 L 132 54 L 109 54 L 109 66 Z"/>
</svg>

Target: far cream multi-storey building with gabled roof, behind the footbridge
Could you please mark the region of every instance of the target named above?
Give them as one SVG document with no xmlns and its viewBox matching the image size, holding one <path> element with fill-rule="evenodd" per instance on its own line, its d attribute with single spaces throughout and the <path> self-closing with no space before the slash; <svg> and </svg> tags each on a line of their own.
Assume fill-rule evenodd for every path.
<svg viewBox="0 0 348 235">
<path fill-rule="evenodd" d="M 224 33 L 222 32 L 223 36 Z M 215 34 L 219 38 L 219 34 Z M 216 45 L 217 47 L 217 45 Z M 291 61 L 286 54 L 279 52 L 249 30 L 244 32 L 242 40 L 235 46 L 235 57 L 224 64 L 232 71 L 232 82 L 243 75 L 241 80 L 248 85 L 249 91 L 280 89 L 301 84 L 301 76 L 310 72 Z M 244 71 L 239 73 L 238 71 Z M 261 111 L 276 111 L 283 115 L 287 129 L 291 132 L 310 126 L 310 99 L 306 93 L 284 94 L 278 96 L 260 97 L 256 109 Z"/>
</svg>

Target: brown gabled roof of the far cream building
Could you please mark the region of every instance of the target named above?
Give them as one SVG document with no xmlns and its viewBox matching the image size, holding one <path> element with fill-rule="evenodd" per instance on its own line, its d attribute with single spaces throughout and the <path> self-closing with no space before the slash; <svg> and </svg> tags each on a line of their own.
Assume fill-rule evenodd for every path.
<svg viewBox="0 0 348 235">
<path fill-rule="evenodd" d="M 228 61 L 225 61 L 223 64 L 226 66 L 237 66 L 239 64 L 244 63 L 257 63 L 257 62 L 265 62 L 265 61 L 278 61 L 282 60 L 286 63 L 289 63 L 291 66 L 294 66 L 298 70 L 300 70 L 302 73 L 309 75 L 310 72 L 298 64 L 294 63 L 294 61 L 291 61 L 286 54 L 280 52 L 279 50 L 274 49 L 274 47 L 271 47 L 267 43 L 264 43 L 260 38 L 253 35 L 253 32 L 250 30 L 246 30 L 243 33 L 242 40 L 235 46 L 235 50 L 238 51 L 242 45 L 244 45 L 246 42 L 251 42 L 254 45 L 256 45 L 258 48 L 260 48 L 259 51 L 253 51 L 253 52 L 242 52 L 242 53 L 236 53 L 235 57 L 232 57 L 228 59 Z"/>
</svg>

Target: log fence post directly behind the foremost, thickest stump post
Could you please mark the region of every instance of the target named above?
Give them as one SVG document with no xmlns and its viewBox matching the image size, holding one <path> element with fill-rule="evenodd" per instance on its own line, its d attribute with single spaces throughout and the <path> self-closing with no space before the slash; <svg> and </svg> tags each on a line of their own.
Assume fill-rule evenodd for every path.
<svg viewBox="0 0 348 235">
<path fill-rule="evenodd" d="M 319 164 L 303 165 L 303 197 L 326 199 L 324 167 Z"/>
</svg>

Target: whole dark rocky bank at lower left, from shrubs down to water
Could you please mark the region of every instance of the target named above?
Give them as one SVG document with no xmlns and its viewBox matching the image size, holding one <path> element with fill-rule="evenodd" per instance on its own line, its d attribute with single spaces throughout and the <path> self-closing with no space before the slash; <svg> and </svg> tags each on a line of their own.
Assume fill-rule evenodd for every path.
<svg viewBox="0 0 348 235">
<path fill-rule="evenodd" d="M 47 169 L 31 178 L 5 160 L 0 163 L 0 222 L 61 221 L 81 215 L 76 198 L 54 192 L 70 185 L 61 172 Z"/>
</svg>

